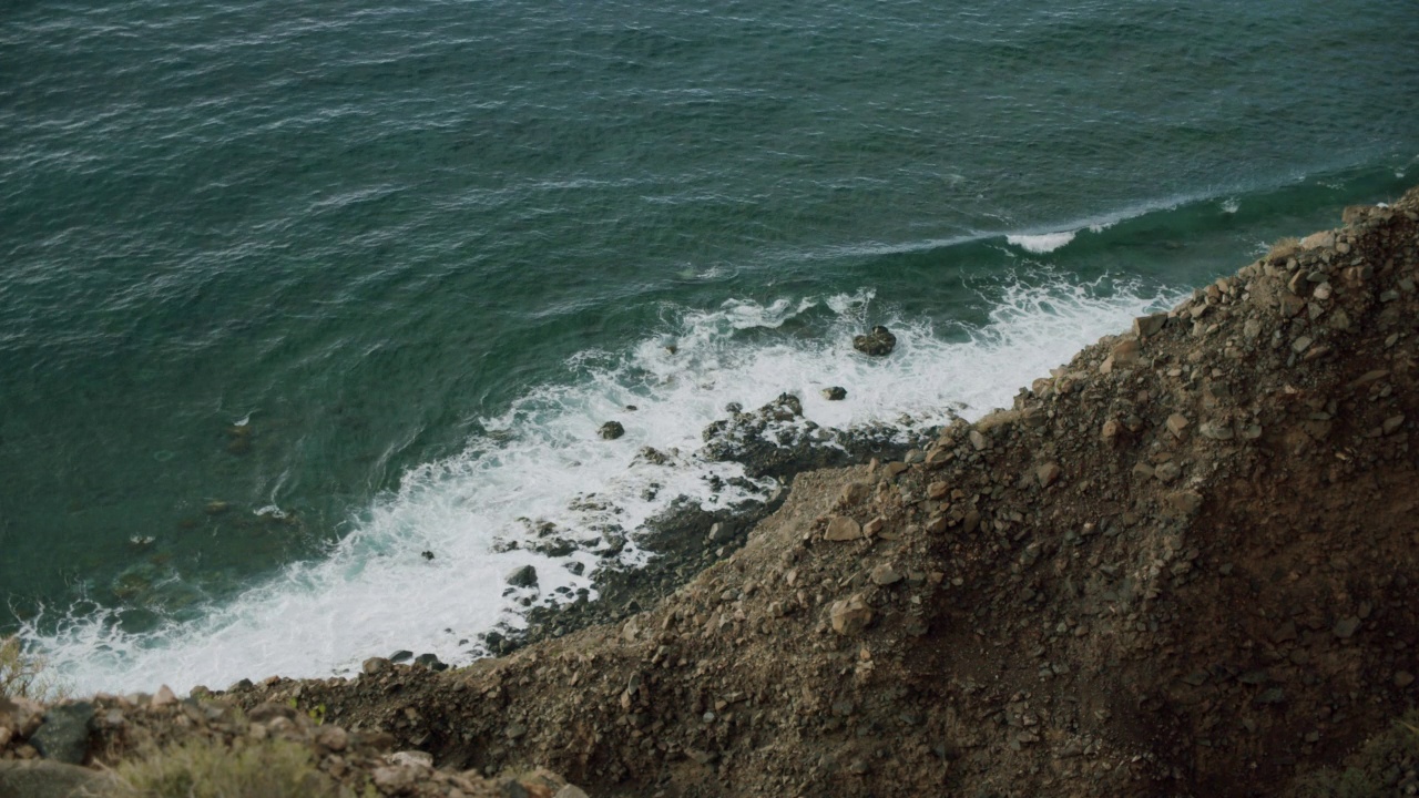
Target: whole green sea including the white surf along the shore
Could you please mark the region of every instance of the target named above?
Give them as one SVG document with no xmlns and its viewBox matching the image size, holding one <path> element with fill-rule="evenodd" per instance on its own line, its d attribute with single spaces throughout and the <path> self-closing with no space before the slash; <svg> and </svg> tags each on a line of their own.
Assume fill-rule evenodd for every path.
<svg viewBox="0 0 1419 798">
<path fill-rule="evenodd" d="M 89 689 L 474 656 L 511 567 L 585 586 L 519 518 L 715 501 L 727 402 L 983 412 L 1393 199 L 1413 41 L 1393 1 L 6 4 L 0 630 Z"/>
</svg>

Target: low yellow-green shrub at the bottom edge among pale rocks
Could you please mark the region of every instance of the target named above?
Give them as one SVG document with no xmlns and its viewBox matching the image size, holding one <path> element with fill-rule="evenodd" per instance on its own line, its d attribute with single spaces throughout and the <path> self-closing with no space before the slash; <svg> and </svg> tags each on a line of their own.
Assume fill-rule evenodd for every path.
<svg viewBox="0 0 1419 798">
<path fill-rule="evenodd" d="M 265 740 L 240 750 L 189 740 L 118 765 L 112 798 L 333 798 L 311 750 Z"/>
</svg>

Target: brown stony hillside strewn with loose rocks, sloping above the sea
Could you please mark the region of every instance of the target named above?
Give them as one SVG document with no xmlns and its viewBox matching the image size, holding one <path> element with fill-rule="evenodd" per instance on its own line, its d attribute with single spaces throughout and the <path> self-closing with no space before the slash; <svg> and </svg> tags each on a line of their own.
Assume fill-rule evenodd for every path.
<svg viewBox="0 0 1419 798">
<path fill-rule="evenodd" d="M 1010 409 L 797 473 L 614 623 L 441 673 L 9 703 L 0 795 L 58 740 L 95 767 L 190 734 L 287 734 L 383 795 L 1340 795 L 1347 764 L 1413 795 L 1419 740 L 1365 741 L 1419 697 L 1416 281 L 1419 190 L 1347 209 Z"/>
</svg>

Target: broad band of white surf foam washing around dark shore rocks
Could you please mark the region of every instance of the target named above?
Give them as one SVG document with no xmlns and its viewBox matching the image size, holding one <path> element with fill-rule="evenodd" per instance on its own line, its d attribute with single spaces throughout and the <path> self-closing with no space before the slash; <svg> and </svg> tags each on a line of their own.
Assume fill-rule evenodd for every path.
<svg viewBox="0 0 1419 798">
<path fill-rule="evenodd" d="M 738 466 L 692 454 L 701 429 L 722 417 L 728 402 L 758 408 L 789 390 L 807 417 L 837 427 L 904 413 L 918 425 L 954 412 L 979 416 L 1009 405 L 1020 385 L 1080 345 L 1178 298 L 1060 280 L 998 285 L 989 295 L 982 294 L 993 305 L 989 322 L 975 329 L 893 318 L 866 290 L 769 304 L 731 300 L 710 311 L 667 308 L 663 331 L 622 354 L 583 352 L 569 364 L 573 376 L 565 385 L 541 386 L 504 415 L 481 419 L 487 434 L 461 456 L 409 473 L 328 557 L 289 565 L 196 621 L 152 633 L 118 632 L 109 615 L 91 612 L 58 633 L 37 635 L 31 625 L 26 635 L 81 693 L 349 673 L 362 659 L 396 649 L 464 663 L 474 655 L 461 640 L 497 623 L 517 626 L 519 598 L 548 601 L 558 586 L 589 586 L 597 558 L 528 551 L 534 525 L 552 523 L 568 540 L 599 545 L 602 527 L 631 531 L 681 494 L 708 507 L 748 498 L 707 486 L 711 474 L 739 474 Z M 897 335 L 888 358 L 851 351 L 870 311 Z M 826 332 L 772 332 L 805 312 L 826 319 Z M 846 388 L 847 399 L 826 400 L 820 390 L 832 385 Z M 606 420 L 624 425 L 624 437 L 602 440 L 596 430 Z M 657 466 L 637 460 L 643 446 L 678 453 Z M 511 542 L 518 548 L 508 550 Z M 420 557 L 426 550 L 431 561 Z M 622 558 L 643 561 L 633 535 Z M 587 572 L 573 575 L 570 561 Z M 539 591 L 504 596 L 505 575 L 521 565 L 536 568 Z"/>
</svg>

